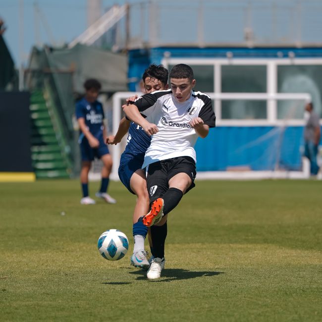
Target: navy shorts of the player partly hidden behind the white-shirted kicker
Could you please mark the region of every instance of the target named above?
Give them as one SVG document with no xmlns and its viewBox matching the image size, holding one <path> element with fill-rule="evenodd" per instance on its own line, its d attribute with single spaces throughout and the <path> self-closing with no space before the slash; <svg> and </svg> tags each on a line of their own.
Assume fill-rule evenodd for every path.
<svg viewBox="0 0 322 322">
<path fill-rule="evenodd" d="M 121 182 L 126 187 L 126 189 L 133 195 L 135 195 L 135 193 L 132 191 L 130 187 L 130 180 L 133 173 L 136 170 L 141 169 L 143 161 L 144 153 L 141 153 L 136 156 L 124 153 L 121 155 L 120 164 L 118 167 L 118 176 Z"/>
</svg>

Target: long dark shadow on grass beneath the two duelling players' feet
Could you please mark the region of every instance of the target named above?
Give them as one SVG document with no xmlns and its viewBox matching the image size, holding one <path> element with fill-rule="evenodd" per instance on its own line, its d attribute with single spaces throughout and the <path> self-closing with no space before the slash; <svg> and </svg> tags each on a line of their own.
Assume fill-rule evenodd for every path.
<svg viewBox="0 0 322 322">
<path fill-rule="evenodd" d="M 136 270 L 136 271 L 130 271 L 130 274 L 134 275 L 140 275 L 137 277 L 137 279 L 147 279 L 147 272 L 145 270 Z M 155 282 L 170 282 L 173 280 L 179 280 L 179 279 L 190 279 L 190 278 L 196 278 L 196 277 L 206 277 L 206 276 L 215 276 L 219 274 L 224 274 L 222 271 L 193 271 L 193 270 L 187 270 L 182 268 L 170 268 L 166 269 L 164 268 L 161 273 L 161 278 L 155 280 Z M 166 278 L 164 278 L 166 277 Z"/>
</svg>

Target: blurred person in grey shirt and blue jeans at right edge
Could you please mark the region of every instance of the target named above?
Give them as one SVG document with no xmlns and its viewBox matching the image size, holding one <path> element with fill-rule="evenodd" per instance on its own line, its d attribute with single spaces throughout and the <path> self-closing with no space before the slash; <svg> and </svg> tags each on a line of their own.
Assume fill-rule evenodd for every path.
<svg viewBox="0 0 322 322">
<path fill-rule="evenodd" d="M 319 172 L 317 155 L 321 138 L 320 117 L 313 111 L 313 103 L 308 103 L 305 106 L 305 110 L 307 121 L 304 128 L 304 156 L 310 160 L 311 175 L 317 175 Z"/>
</svg>

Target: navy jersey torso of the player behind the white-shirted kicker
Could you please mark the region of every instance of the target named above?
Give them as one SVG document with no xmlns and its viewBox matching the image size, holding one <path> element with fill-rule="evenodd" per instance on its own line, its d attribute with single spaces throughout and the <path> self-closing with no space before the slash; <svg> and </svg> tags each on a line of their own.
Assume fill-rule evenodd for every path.
<svg viewBox="0 0 322 322">
<path fill-rule="evenodd" d="M 145 152 L 150 147 L 150 143 L 151 136 L 146 134 L 141 126 L 131 122 L 124 154 L 131 154 L 134 156 L 143 154 L 144 156 Z"/>
</svg>

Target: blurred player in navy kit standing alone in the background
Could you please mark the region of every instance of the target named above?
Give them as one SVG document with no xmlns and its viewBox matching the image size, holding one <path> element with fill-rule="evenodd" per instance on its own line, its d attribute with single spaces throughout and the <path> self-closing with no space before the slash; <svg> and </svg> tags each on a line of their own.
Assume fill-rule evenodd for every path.
<svg viewBox="0 0 322 322">
<path fill-rule="evenodd" d="M 88 79 L 84 83 L 84 88 L 85 97 L 76 103 L 76 118 L 80 128 L 79 145 L 82 158 L 80 180 L 83 198 L 81 199 L 81 204 L 95 204 L 95 200 L 89 196 L 88 190 L 88 173 L 94 158 L 103 161 L 101 189 L 96 193 L 96 196 L 104 199 L 107 203 L 115 204 L 115 199 L 107 194 L 112 158 L 105 143 L 107 134 L 103 122 L 103 106 L 97 100 L 101 90 L 101 83 L 96 79 Z"/>
</svg>

